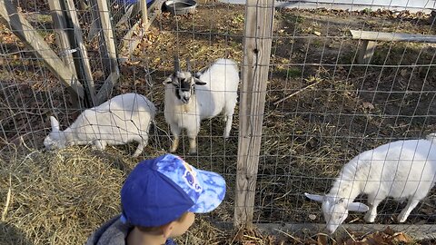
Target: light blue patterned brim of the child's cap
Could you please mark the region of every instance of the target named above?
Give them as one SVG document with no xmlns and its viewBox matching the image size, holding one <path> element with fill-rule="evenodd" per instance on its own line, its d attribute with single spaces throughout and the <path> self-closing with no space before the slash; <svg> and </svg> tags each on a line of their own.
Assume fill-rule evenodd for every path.
<svg viewBox="0 0 436 245">
<path fill-rule="evenodd" d="M 225 197 L 225 181 L 221 175 L 213 171 L 197 172 L 197 180 L 203 188 L 198 200 L 188 211 L 195 213 L 209 212 L 216 209 Z"/>
</svg>

